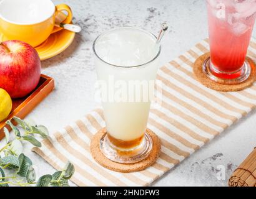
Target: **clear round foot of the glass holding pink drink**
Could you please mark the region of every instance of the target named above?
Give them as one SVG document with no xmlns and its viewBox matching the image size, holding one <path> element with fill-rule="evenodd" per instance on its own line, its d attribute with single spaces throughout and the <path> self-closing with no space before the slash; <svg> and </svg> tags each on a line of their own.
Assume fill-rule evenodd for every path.
<svg viewBox="0 0 256 199">
<path fill-rule="evenodd" d="M 244 66 L 233 73 L 223 73 L 217 70 L 210 62 L 210 57 L 205 60 L 203 65 L 205 75 L 217 83 L 224 85 L 236 85 L 247 80 L 251 73 L 250 64 L 245 60 Z"/>
</svg>

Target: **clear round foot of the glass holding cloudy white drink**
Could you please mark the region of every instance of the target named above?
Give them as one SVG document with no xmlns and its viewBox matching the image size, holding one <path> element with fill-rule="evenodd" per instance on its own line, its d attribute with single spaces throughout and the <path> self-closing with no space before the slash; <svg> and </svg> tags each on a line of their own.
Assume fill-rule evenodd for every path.
<svg viewBox="0 0 256 199">
<path fill-rule="evenodd" d="M 153 142 L 149 134 L 145 133 L 145 137 L 139 146 L 127 150 L 117 149 L 111 144 L 106 133 L 102 136 L 99 146 L 102 154 L 113 162 L 133 164 L 135 162 L 140 162 L 149 156 Z"/>
</svg>

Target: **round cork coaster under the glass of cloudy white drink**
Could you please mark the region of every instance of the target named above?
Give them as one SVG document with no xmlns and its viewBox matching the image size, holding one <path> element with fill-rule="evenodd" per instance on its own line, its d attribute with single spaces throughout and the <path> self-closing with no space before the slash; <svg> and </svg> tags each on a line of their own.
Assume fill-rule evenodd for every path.
<svg viewBox="0 0 256 199">
<path fill-rule="evenodd" d="M 101 137 L 104 136 L 104 134 L 106 134 L 105 128 L 97 132 L 94 137 L 92 137 L 90 148 L 94 160 L 109 170 L 123 173 L 137 172 L 147 169 L 147 167 L 150 167 L 159 158 L 161 148 L 160 139 L 154 132 L 150 131 L 149 129 L 147 129 L 147 134 L 149 134 L 153 141 L 152 150 L 146 159 L 134 164 L 120 164 L 107 159 L 107 157 L 102 154 L 101 149 L 99 148 Z"/>
</svg>

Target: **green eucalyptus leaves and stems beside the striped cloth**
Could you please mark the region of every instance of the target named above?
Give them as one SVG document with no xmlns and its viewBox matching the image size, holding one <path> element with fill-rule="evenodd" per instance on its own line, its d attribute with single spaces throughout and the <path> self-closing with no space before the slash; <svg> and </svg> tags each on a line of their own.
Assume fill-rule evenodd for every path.
<svg viewBox="0 0 256 199">
<path fill-rule="evenodd" d="M 1 42 L 0 45 L 2 45 Z M 26 185 L 34 184 L 36 187 L 69 186 L 68 180 L 74 174 L 74 165 L 71 162 L 67 162 L 64 170 L 57 171 L 52 175 L 43 175 L 36 181 L 36 172 L 32 161 L 22 153 L 22 144 L 23 142 L 30 142 L 36 147 L 41 147 L 41 142 L 34 135 L 44 139 L 49 137 L 49 132 L 45 126 L 32 125 L 16 117 L 13 119 L 19 126 L 14 126 L 11 121 L 6 122 L 14 131 L 15 137 L 12 140 L 10 140 L 9 130 L 4 128 L 7 144 L 0 149 L 0 187 L 9 185 L 26 187 Z M 23 131 L 20 131 L 21 129 Z M 5 176 L 4 169 L 12 170 L 13 175 Z"/>
</svg>

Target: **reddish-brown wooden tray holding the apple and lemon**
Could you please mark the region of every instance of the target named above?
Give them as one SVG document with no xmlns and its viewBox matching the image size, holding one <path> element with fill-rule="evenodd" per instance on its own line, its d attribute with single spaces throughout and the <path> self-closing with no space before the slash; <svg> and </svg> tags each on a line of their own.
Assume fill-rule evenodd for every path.
<svg viewBox="0 0 256 199">
<path fill-rule="evenodd" d="M 0 122 L 0 140 L 4 137 L 4 127 L 6 126 L 10 130 L 9 126 L 5 124 L 7 120 L 11 120 L 14 116 L 25 118 L 52 90 L 54 90 L 54 80 L 49 76 L 41 75 L 37 88 L 30 95 L 21 99 L 13 99 L 11 113 L 8 118 Z M 16 124 L 13 120 L 12 122 Z"/>
</svg>

